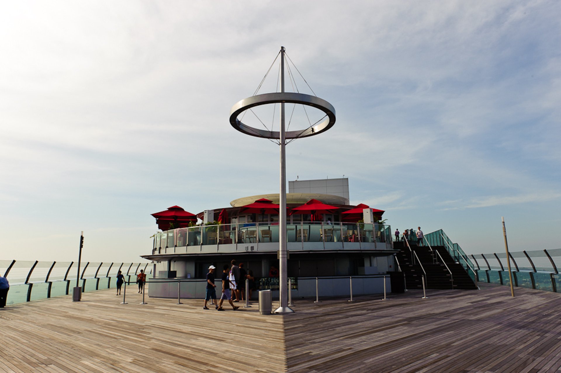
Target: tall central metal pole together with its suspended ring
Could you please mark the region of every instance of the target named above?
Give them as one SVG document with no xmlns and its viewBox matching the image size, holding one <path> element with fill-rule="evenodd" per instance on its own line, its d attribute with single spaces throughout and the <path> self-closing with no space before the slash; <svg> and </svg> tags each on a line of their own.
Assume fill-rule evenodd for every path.
<svg viewBox="0 0 561 373">
<path fill-rule="evenodd" d="M 317 96 L 289 93 L 284 91 L 284 47 L 280 47 L 280 92 L 265 93 L 251 96 L 238 101 L 230 110 L 230 124 L 236 130 L 246 135 L 262 137 L 264 139 L 275 139 L 280 145 L 280 192 L 279 192 L 279 298 L 280 306 L 274 311 L 277 314 L 288 314 L 294 312 L 288 307 L 288 275 L 287 275 L 287 237 L 286 237 L 286 154 L 284 148 L 286 140 L 299 139 L 319 135 L 329 130 L 335 124 L 335 109 L 327 101 Z M 279 131 L 268 131 L 246 125 L 238 115 L 253 107 L 266 104 L 280 104 L 280 128 Z M 319 109 L 325 113 L 324 120 L 314 123 L 304 130 L 286 131 L 284 118 L 284 104 L 301 104 Z"/>
</svg>

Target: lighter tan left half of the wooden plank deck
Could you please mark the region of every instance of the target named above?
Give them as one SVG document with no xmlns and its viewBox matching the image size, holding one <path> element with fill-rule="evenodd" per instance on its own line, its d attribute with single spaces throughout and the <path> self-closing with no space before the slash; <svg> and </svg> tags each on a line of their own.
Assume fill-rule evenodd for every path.
<svg viewBox="0 0 561 373">
<path fill-rule="evenodd" d="M 282 316 L 114 290 L 0 308 L 0 372 L 284 372 Z"/>
</svg>

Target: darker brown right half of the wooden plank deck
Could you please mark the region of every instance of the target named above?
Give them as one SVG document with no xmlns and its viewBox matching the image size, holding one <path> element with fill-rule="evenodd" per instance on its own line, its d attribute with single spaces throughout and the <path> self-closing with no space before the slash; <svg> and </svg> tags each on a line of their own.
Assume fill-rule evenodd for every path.
<svg viewBox="0 0 561 373">
<path fill-rule="evenodd" d="M 481 284 L 481 291 L 298 301 L 284 317 L 287 370 L 561 371 L 561 294 Z"/>
</svg>

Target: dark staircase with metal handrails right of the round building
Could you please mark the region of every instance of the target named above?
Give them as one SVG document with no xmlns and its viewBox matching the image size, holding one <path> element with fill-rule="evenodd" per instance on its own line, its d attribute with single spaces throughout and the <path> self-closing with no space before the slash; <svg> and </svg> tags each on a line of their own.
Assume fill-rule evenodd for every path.
<svg viewBox="0 0 561 373">
<path fill-rule="evenodd" d="M 399 250 L 396 257 L 405 275 L 408 289 L 422 289 L 421 278 L 425 272 L 426 287 L 429 289 L 477 289 L 463 266 L 456 263 L 443 246 L 433 246 L 431 251 L 428 246 L 417 246 L 415 243 L 410 245 L 411 251 L 405 242 L 394 242 L 394 249 Z M 436 251 L 442 256 L 442 260 Z M 452 276 L 446 266 L 452 272 Z"/>
</svg>

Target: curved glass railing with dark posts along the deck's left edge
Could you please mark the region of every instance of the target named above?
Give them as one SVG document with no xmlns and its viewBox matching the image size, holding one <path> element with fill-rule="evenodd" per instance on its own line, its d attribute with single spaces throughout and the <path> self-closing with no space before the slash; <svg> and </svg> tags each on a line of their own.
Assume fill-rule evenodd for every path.
<svg viewBox="0 0 561 373">
<path fill-rule="evenodd" d="M 116 287 L 117 272 L 127 281 L 135 281 L 136 273 L 144 270 L 146 278 L 152 271 L 148 263 L 89 263 L 80 264 L 79 286 L 82 292 Z M 78 277 L 74 262 L 0 260 L 0 274 L 8 279 L 7 305 L 72 294 Z"/>
</svg>

